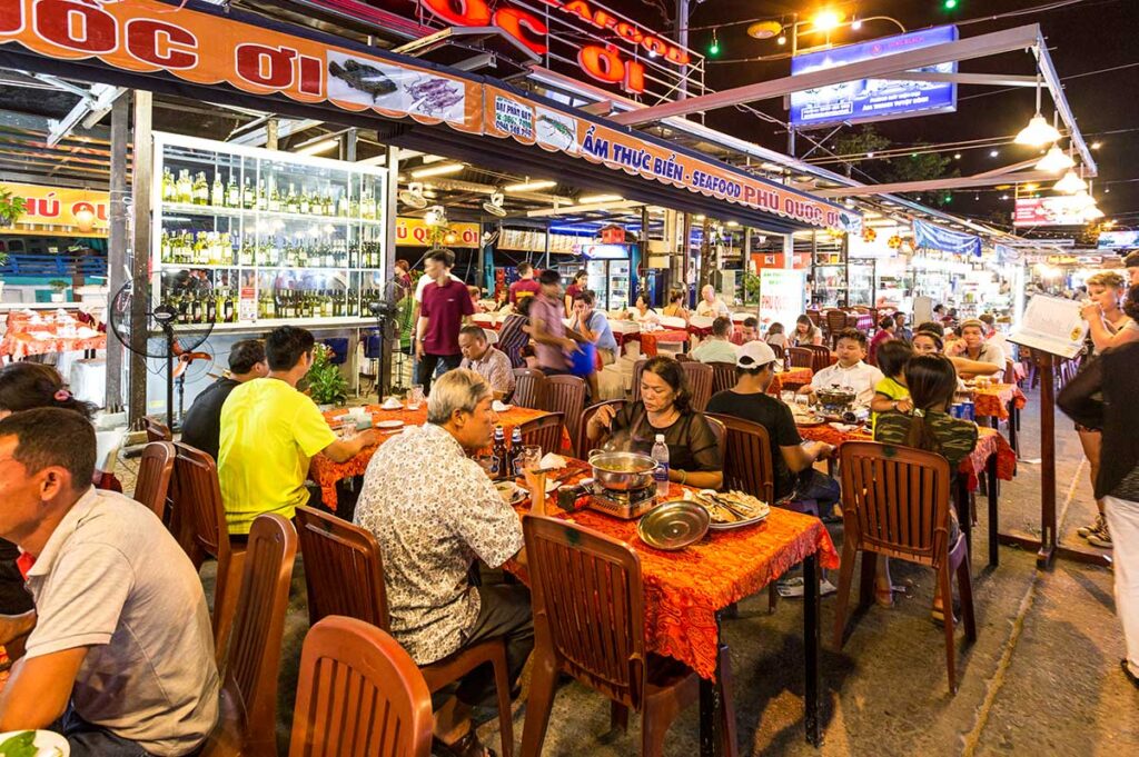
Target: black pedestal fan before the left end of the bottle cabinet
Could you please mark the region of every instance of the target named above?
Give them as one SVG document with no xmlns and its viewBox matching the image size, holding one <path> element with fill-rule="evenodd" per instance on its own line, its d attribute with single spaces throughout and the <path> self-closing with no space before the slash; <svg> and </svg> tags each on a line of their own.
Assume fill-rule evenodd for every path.
<svg viewBox="0 0 1139 757">
<path fill-rule="evenodd" d="M 171 429 L 174 428 L 174 381 L 185 381 L 185 371 L 195 360 L 211 359 L 197 348 L 210 338 L 215 313 L 213 286 L 190 273 L 178 277 L 169 287 L 166 298 L 157 303 L 150 298 L 149 285 L 136 291 L 133 280 L 126 281 L 110 299 L 107 320 L 115 338 L 137 355 L 165 362 L 166 426 Z M 141 334 L 132 331 L 136 328 L 132 320 Z"/>
</svg>

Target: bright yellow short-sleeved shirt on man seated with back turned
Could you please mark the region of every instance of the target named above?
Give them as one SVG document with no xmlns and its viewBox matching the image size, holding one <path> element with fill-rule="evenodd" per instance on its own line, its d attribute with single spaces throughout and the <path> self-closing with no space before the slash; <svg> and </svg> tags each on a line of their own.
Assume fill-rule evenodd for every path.
<svg viewBox="0 0 1139 757">
<path fill-rule="evenodd" d="M 309 501 L 310 460 L 335 441 L 312 400 L 285 381 L 253 379 L 230 392 L 218 460 L 229 533 L 248 534 L 265 512 L 292 519 Z"/>
</svg>

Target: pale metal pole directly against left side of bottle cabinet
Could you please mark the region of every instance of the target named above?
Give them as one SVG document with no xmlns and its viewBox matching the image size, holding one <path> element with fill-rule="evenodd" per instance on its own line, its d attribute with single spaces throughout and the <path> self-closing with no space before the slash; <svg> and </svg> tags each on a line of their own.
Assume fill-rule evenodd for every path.
<svg viewBox="0 0 1139 757">
<path fill-rule="evenodd" d="M 132 212 L 134 230 L 131 239 L 131 280 L 134 296 L 131 297 L 131 362 L 130 401 L 128 420 L 132 428 L 147 411 L 147 314 L 150 294 L 150 186 L 154 180 L 154 142 L 150 137 L 154 94 L 134 90 L 134 151 L 131 176 L 133 178 Z"/>
</svg>

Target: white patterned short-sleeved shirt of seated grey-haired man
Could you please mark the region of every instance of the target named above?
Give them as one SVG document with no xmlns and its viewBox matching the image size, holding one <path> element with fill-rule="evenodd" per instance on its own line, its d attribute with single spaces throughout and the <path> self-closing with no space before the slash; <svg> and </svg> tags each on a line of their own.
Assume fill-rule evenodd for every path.
<svg viewBox="0 0 1139 757">
<path fill-rule="evenodd" d="M 355 524 L 376 535 L 392 634 L 419 665 L 453 653 L 478 618 L 468 570 L 523 546 L 522 524 L 446 429 L 410 428 L 372 456 Z"/>
</svg>

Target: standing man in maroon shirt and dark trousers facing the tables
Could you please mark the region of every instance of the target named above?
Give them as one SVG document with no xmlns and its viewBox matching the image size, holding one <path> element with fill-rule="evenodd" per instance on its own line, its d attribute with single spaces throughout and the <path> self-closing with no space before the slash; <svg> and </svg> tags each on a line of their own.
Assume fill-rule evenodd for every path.
<svg viewBox="0 0 1139 757">
<path fill-rule="evenodd" d="M 449 249 L 436 249 L 424 261 L 424 275 L 432 282 L 424 287 L 416 331 L 416 357 L 418 382 L 424 393 L 431 393 L 431 380 L 439 363 L 450 371 L 459 367 L 462 351 L 459 348 L 459 329 L 475 312 L 467 286 L 451 278 L 454 254 Z"/>
</svg>

